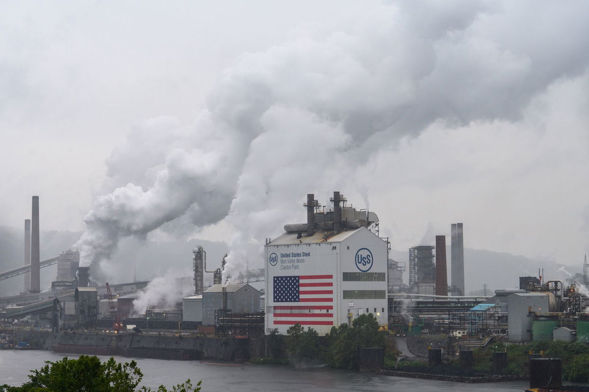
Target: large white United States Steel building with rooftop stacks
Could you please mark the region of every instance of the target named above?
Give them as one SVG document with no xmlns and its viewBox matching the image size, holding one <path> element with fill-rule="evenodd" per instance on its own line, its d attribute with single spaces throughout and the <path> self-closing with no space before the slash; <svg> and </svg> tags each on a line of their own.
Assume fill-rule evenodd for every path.
<svg viewBox="0 0 589 392">
<path fill-rule="evenodd" d="M 299 323 L 323 335 L 365 313 L 388 322 L 388 243 L 369 230 L 378 218 L 339 192 L 332 200 L 333 212 L 317 213 L 307 195 L 307 223 L 284 226 L 264 248 L 266 333 Z"/>
</svg>

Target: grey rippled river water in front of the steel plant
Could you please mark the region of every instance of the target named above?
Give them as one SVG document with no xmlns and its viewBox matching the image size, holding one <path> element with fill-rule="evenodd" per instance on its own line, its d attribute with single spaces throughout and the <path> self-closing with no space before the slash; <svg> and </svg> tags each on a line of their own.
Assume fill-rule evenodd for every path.
<svg viewBox="0 0 589 392">
<path fill-rule="evenodd" d="M 58 361 L 62 354 L 39 350 L 0 350 L 0 384 L 20 386 L 28 381 L 29 370 L 38 369 L 45 361 Z M 74 357 L 74 355 L 71 355 Z M 108 357 L 100 357 L 106 360 Z M 131 358 L 115 357 L 117 361 Z M 168 388 L 190 378 L 193 384 L 203 380 L 203 392 L 210 391 L 518 391 L 527 381 L 509 383 L 466 384 L 449 381 L 391 377 L 358 371 L 330 369 L 296 369 L 271 365 L 210 364 L 206 361 L 167 361 L 136 358 L 144 374 L 141 386 Z"/>
</svg>

